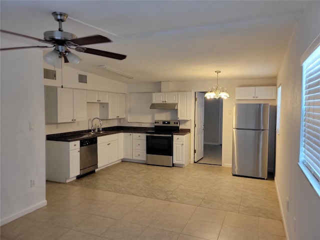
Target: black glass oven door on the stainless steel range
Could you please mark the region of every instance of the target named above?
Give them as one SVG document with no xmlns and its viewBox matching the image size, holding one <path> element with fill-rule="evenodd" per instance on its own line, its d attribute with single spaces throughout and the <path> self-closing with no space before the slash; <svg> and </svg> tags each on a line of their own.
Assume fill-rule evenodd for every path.
<svg viewBox="0 0 320 240">
<path fill-rule="evenodd" d="M 146 154 L 172 156 L 172 135 L 146 134 Z"/>
</svg>

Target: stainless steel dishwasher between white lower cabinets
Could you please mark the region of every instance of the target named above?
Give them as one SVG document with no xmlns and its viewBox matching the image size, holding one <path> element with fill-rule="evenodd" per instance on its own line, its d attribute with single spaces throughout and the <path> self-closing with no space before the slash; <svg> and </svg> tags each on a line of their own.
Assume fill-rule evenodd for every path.
<svg viewBox="0 0 320 240">
<path fill-rule="evenodd" d="M 93 172 L 98 166 L 96 137 L 80 140 L 80 175 Z"/>
</svg>

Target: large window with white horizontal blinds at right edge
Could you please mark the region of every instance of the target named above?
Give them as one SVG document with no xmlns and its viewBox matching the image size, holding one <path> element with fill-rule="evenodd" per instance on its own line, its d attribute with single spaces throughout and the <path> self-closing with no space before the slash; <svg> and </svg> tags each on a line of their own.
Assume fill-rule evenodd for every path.
<svg viewBox="0 0 320 240">
<path fill-rule="evenodd" d="M 320 46 L 302 64 L 301 98 L 299 165 L 320 195 Z"/>
</svg>

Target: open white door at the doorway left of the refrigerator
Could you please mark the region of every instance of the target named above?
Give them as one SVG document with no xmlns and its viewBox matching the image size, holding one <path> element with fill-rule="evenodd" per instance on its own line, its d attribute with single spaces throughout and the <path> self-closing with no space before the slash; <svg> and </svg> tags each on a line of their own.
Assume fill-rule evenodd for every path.
<svg viewBox="0 0 320 240">
<path fill-rule="evenodd" d="M 204 93 L 195 92 L 194 162 L 203 157 Z"/>
</svg>

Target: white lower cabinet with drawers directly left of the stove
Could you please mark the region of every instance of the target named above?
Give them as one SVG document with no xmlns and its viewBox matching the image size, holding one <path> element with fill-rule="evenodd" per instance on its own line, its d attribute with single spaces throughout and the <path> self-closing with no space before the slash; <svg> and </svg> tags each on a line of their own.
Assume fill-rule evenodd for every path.
<svg viewBox="0 0 320 240">
<path fill-rule="evenodd" d="M 124 160 L 145 162 L 145 133 L 124 133 L 123 158 Z"/>
</svg>

